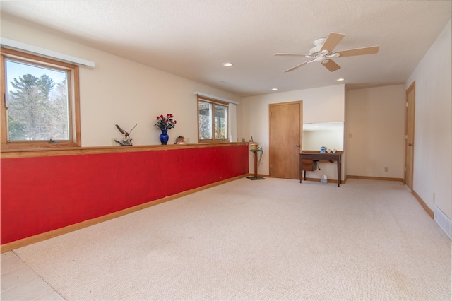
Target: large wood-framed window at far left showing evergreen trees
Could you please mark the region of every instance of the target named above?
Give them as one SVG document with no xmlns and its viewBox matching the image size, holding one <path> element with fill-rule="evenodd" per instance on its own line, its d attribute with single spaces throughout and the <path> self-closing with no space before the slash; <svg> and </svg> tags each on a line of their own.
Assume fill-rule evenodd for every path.
<svg viewBox="0 0 452 301">
<path fill-rule="evenodd" d="M 81 146 L 78 66 L 1 48 L 1 147 Z"/>
</svg>

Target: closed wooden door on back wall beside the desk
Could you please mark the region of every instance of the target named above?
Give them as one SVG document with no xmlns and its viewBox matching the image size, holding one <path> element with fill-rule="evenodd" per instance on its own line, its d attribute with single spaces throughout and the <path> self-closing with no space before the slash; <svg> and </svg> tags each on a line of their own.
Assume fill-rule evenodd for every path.
<svg viewBox="0 0 452 301">
<path fill-rule="evenodd" d="M 302 149 L 302 101 L 283 102 L 268 107 L 270 124 L 270 177 L 299 179 Z"/>
</svg>

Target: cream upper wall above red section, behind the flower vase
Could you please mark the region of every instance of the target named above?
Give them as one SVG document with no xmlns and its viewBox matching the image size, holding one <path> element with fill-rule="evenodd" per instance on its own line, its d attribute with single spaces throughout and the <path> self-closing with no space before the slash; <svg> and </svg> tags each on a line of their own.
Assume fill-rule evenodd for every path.
<svg viewBox="0 0 452 301">
<path fill-rule="evenodd" d="M 237 95 L 10 21 L 1 20 L 1 37 L 95 62 L 94 69 L 80 68 L 82 146 L 111 146 L 112 138 L 121 138 L 114 124 L 126 130 L 138 124 L 131 134 L 133 145 L 160 144 L 160 132 L 154 126 L 160 114 L 174 114 L 177 120 L 177 126 L 168 131 L 169 143 L 179 135 L 197 143 L 195 91 L 241 100 Z M 239 110 L 237 105 L 237 114 Z M 237 141 L 236 117 L 231 117 L 230 134 Z"/>
</svg>

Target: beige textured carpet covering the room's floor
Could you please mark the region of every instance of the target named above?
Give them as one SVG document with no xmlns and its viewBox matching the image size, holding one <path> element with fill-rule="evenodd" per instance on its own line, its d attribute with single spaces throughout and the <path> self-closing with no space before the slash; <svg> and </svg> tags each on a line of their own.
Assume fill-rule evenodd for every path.
<svg viewBox="0 0 452 301">
<path fill-rule="evenodd" d="M 14 252 L 66 300 L 451 300 L 400 182 L 243 178 Z"/>
</svg>

